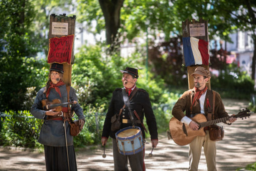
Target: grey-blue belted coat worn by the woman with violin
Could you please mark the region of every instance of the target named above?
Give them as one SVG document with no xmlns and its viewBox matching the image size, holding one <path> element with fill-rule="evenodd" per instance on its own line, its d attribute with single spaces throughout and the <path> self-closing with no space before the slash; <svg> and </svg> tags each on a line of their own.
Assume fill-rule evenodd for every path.
<svg viewBox="0 0 256 171">
<path fill-rule="evenodd" d="M 67 90 L 66 85 L 59 86 L 61 97 L 54 88 L 50 90 L 48 100 L 60 99 L 62 103 L 67 102 Z M 31 107 L 31 113 L 38 119 L 44 119 L 42 125 L 38 142 L 49 146 L 65 146 L 65 135 L 64 135 L 64 125 L 62 120 L 46 120 L 45 110 L 42 110 L 41 101 L 46 99 L 46 94 L 43 93 L 44 88 L 41 88 L 36 96 L 35 102 Z M 75 90 L 70 87 L 69 101 L 78 101 Z M 63 107 L 68 107 L 63 106 Z M 74 110 L 79 119 L 84 120 L 83 109 L 78 103 L 72 104 L 71 109 Z M 73 136 L 70 135 L 70 125 L 65 122 L 66 133 L 67 133 L 67 145 L 73 145 Z"/>
</svg>

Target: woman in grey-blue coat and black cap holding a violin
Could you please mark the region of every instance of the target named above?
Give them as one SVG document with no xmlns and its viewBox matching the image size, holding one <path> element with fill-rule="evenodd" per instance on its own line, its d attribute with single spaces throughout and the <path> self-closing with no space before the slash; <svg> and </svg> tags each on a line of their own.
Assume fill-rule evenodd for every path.
<svg viewBox="0 0 256 171">
<path fill-rule="evenodd" d="M 31 113 L 36 118 L 44 120 L 38 142 L 44 144 L 47 171 L 77 170 L 73 136 L 70 135 L 70 125 L 66 118 L 72 117 L 72 111 L 74 111 L 78 116 L 80 129 L 83 128 L 85 122 L 83 109 L 77 103 L 75 90 L 72 87 L 66 86 L 62 81 L 63 73 L 62 64 L 52 64 L 49 80 L 46 86 L 38 91 L 35 102 L 31 107 Z M 73 104 L 70 108 L 66 103 L 61 106 L 61 111 L 56 111 L 56 108 L 43 109 L 43 100 L 51 102 L 56 101 L 56 99 L 61 103 L 73 102 Z"/>
</svg>

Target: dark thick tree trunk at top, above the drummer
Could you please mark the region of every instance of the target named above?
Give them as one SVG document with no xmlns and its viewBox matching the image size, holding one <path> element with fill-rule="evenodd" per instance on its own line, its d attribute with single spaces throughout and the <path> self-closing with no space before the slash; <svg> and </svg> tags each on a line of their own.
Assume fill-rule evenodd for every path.
<svg viewBox="0 0 256 171">
<path fill-rule="evenodd" d="M 111 45 L 120 27 L 120 10 L 124 0 L 99 0 L 105 19 L 106 44 Z"/>
</svg>

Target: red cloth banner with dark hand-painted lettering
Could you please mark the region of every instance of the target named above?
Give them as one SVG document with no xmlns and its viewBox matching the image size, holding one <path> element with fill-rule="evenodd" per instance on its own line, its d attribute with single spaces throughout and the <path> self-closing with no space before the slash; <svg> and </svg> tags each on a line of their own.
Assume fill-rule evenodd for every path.
<svg viewBox="0 0 256 171">
<path fill-rule="evenodd" d="M 70 65 L 74 35 L 62 36 L 49 39 L 48 63 L 64 63 Z"/>
</svg>

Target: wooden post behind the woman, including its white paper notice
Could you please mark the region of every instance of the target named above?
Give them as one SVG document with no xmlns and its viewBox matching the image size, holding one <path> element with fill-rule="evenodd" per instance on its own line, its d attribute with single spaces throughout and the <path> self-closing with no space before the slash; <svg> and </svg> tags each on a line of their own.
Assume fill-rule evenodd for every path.
<svg viewBox="0 0 256 171">
<path fill-rule="evenodd" d="M 75 37 L 75 21 L 76 21 L 76 16 L 66 17 L 66 14 L 59 15 L 59 16 L 55 14 L 51 14 L 50 26 L 49 26 L 49 37 L 48 37 L 49 42 L 51 38 L 56 38 L 56 37 L 60 38 L 68 35 L 74 35 Z M 65 82 L 66 85 L 69 85 L 69 86 L 71 86 L 72 64 L 74 64 L 74 40 L 75 39 L 73 39 L 73 45 L 71 46 L 72 53 L 71 53 L 70 64 L 68 64 L 67 61 L 62 63 L 63 69 L 64 69 L 63 81 Z M 50 45 L 49 45 L 49 50 L 50 50 Z M 48 54 L 48 58 L 49 58 L 49 54 Z M 61 55 L 60 55 L 60 58 L 61 58 Z M 50 62 L 48 61 L 48 63 Z M 50 64 L 50 67 L 51 65 L 52 63 Z"/>
</svg>

